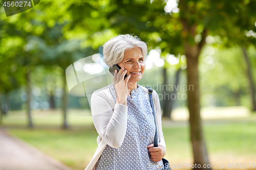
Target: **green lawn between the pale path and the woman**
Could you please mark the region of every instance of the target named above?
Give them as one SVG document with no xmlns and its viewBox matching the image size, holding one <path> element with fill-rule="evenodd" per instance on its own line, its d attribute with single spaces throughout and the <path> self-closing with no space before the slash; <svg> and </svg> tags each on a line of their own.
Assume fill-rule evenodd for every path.
<svg viewBox="0 0 256 170">
<path fill-rule="evenodd" d="M 12 129 L 10 132 L 72 169 L 84 169 L 97 148 L 96 130 Z"/>
</svg>

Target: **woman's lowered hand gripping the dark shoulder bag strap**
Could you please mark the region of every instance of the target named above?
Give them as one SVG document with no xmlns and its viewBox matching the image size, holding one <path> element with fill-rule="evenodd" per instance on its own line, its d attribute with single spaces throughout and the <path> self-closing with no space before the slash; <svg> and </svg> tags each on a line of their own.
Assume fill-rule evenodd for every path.
<svg viewBox="0 0 256 170">
<path fill-rule="evenodd" d="M 154 162 L 161 161 L 165 155 L 165 148 L 162 145 L 154 147 L 154 143 L 147 145 L 148 152 L 150 152 L 150 159 Z"/>
</svg>

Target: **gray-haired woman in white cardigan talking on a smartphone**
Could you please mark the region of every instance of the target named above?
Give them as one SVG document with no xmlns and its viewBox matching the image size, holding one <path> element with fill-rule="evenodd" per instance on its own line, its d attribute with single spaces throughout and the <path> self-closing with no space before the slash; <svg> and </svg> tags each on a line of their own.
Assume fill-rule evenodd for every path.
<svg viewBox="0 0 256 170">
<path fill-rule="evenodd" d="M 115 71 L 114 83 L 92 94 L 93 123 L 99 136 L 86 170 L 162 169 L 165 142 L 158 94 L 153 91 L 159 141 L 154 147 L 152 107 L 147 89 L 137 84 L 144 74 L 146 53 L 146 44 L 129 34 L 103 45 L 104 62 L 108 66 L 118 64 L 121 69 Z"/>
</svg>

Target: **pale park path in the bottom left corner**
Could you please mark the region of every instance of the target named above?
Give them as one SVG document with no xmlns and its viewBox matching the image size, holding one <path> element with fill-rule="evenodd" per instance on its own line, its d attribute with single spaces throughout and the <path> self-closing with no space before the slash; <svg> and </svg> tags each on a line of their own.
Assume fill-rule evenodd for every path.
<svg viewBox="0 0 256 170">
<path fill-rule="evenodd" d="M 72 170 L 0 128 L 0 170 Z"/>
</svg>

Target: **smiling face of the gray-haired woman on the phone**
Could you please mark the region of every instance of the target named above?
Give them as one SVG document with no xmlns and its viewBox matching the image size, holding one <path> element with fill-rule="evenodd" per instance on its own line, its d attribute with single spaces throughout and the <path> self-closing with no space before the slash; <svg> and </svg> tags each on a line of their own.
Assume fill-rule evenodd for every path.
<svg viewBox="0 0 256 170">
<path fill-rule="evenodd" d="M 131 75 L 128 83 L 137 83 L 144 74 L 145 63 L 140 47 L 134 47 L 124 52 L 123 60 L 118 63 L 127 70 L 127 75 Z"/>
</svg>

